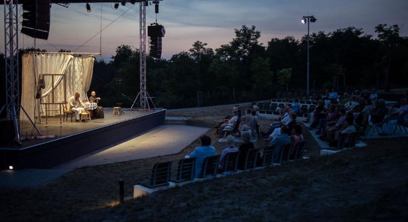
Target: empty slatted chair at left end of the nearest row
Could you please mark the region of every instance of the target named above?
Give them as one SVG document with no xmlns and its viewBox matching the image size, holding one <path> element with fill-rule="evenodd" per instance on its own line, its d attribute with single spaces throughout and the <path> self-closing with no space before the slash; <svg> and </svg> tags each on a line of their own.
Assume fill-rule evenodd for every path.
<svg viewBox="0 0 408 222">
<path fill-rule="evenodd" d="M 172 163 L 172 161 L 169 161 L 154 164 L 152 174 L 150 176 L 150 181 L 140 184 L 149 188 L 169 185 L 172 172 Z"/>
</svg>

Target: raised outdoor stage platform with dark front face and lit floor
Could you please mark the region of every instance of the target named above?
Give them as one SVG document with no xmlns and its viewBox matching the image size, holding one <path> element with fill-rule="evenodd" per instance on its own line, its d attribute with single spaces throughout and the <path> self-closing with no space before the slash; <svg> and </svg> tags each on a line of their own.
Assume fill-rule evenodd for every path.
<svg viewBox="0 0 408 222">
<path fill-rule="evenodd" d="M 121 142 L 146 130 L 161 125 L 165 109 L 150 111 L 124 110 L 125 114 L 113 115 L 112 108 L 104 109 L 105 118 L 91 122 L 73 122 L 71 117 L 62 123 L 37 124 L 42 135 L 56 135 L 56 138 L 22 141 L 22 146 L 0 148 L 1 168 L 48 169 L 95 150 Z M 44 120 L 44 119 L 43 119 Z M 59 121 L 52 117 L 48 121 Z M 21 137 L 38 135 L 30 122 L 21 123 Z"/>
</svg>

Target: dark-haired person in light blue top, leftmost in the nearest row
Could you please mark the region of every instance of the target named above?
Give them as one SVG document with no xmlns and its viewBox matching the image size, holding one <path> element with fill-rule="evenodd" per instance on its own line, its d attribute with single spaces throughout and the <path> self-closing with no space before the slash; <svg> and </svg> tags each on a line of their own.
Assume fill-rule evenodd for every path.
<svg viewBox="0 0 408 222">
<path fill-rule="evenodd" d="M 201 147 L 196 147 L 189 155 L 189 157 L 197 157 L 197 160 L 195 161 L 195 178 L 201 176 L 205 157 L 215 155 L 215 148 L 210 146 L 211 138 L 209 136 L 201 136 L 200 141 Z"/>
</svg>

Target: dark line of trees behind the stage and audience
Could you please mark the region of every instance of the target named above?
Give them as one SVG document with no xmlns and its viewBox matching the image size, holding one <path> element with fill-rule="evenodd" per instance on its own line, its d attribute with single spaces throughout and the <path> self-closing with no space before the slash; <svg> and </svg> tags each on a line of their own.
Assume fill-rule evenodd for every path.
<svg viewBox="0 0 408 222">
<path fill-rule="evenodd" d="M 276 92 L 305 93 L 306 35 L 272 38 L 264 45 L 255 26 L 242 26 L 234 33 L 230 42 L 216 49 L 197 40 L 169 60 L 147 56 L 147 91 L 156 106 L 212 106 L 270 99 Z M 373 37 L 355 27 L 312 33 L 311 93 L 332 87 L 339 91 L 406 87 L 408 38 L 400 37 L 398 25 L 379 24 L 375 33 Z M 40 49 L 20 52 L 32 50 Z M 102 106 L 130 107 L 139 90 L 139 50 L 120 45 L 111 61 L 95 61 L 90 89 L 103 98 Z"/>
</svg>

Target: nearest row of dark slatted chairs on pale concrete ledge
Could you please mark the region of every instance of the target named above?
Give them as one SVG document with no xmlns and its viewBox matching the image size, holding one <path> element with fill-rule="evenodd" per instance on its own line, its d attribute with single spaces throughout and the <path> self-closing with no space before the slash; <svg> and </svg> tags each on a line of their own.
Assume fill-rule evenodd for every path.
<svg viewBox="0 0 408 222">
<path fill-rule="evenodd" d="M 262 150 L 262 157 L 260 157 L 260 149 L 254 148 L 247 150 L 246 153 L 233 152 L 228 153 L 225 157 L 225 164 L 219 171 L 220 155 L 208 156 L 204 159 L 202 172 L 199 178 L 215 177 L 219 172 L 235 172 L 237 170 L 249 170 L 257 167 L 266 167 L 272 165 L 279 165 L 301 159 L 306 151 L 306 141 L 299 142 L 295 148 L 294 155 L 290 155 L 291 145 L 284 146 L 278 156 L 278 161 L 273 162 L 275 148 L 274 146 L 266 147 Z M 245 155 L 245 165 L 238 166 L 240 155 Z M 261 159 L 259 159 L 261 158 Z M 169 182 L 182 183 L 194 180 L 196 158 L 184 158 L 178 162 L 177 174 L 175 177 L 171 176 L 173 161 L 156 163 L 153 166 L 150 181 L 140 183 L 145 187 L 156 188 L 160 186 L 169 185 Z"/>
</svg>

